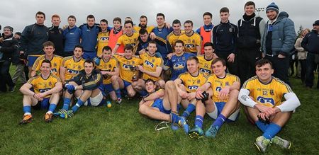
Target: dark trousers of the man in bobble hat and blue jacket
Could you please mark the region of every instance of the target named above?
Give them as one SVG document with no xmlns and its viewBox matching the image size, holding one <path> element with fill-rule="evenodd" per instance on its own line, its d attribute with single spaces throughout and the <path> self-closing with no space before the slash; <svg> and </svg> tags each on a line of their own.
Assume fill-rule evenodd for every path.
<svg viewBox="0 0 319 155">
<path fill-rule="evenodd" d="M 266 59 L 269 59 L 272 62 L 272 68 L 274 69 L 274 74 L 276 78 L 284 81 L 286 84 L 290 85 L 289 82 L 289 57 L 279 58 L 278 55 L 269 56 L 266 55 Z"/>
</svg>

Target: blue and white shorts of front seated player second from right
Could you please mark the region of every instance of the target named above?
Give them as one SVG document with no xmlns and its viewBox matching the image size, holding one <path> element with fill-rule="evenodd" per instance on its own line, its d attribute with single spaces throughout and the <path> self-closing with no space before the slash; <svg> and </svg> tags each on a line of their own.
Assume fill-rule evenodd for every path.
<svg viewBox="0 0 319 155">
<path fill-rule="evenodd" d="M 216 102 L 215 103 L 215 110 L 213 113 L 207 113 L 210 117 L 212 117 L 214 120 L 220 115 L 221 111 L 223 110 L 225 106 L 225 102 Z M 232 115 L 230 115 L 226 122 L 235 122 L 239 117 L 240 109 L 236 110 Z"/>
</svg>

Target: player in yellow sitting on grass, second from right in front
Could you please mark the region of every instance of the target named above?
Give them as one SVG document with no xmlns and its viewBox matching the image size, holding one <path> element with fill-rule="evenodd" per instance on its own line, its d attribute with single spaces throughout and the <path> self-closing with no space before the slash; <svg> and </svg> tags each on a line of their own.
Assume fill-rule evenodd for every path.
<svg viewBox="0 0 319 155">
<path fill-rule="evenodd" d="M 205 47 L 204 47 L 205 48 Z M 222 58 L 216 58 L 211 64 L 213 74 L 208 81 L 196 91 L 196 117 L 195 127 L 189 131 L 189 137 L 203 136 L 203 117 L 205 112 L 215 121 L 205 132 L 206 137 L 216 137 L 216 134 L 225 121 L 234 122 L 240 113 L 238 93 L 240 80 L 237 76 L 225 72 L 226 62 Z M 208 100 L 203 101 L 203 92 L 209 93 Z M 206 95 L 208 95 L 206 93 Z"/>
</svg>

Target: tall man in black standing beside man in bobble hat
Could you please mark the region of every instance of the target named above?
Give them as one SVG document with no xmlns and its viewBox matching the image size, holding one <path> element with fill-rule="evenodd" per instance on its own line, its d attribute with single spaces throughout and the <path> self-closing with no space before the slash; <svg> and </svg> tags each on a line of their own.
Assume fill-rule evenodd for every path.
<svg viewBox="0 0 319 155">
<path fill-rule="evenodd" d="M 238 76 L 243 84 L 255 75 L 255 64 L 262 58 L 260 42 L 264 34 L 265 21 L 257 16 L 253 1 L 247 1 L 244 6 L 245 14 L 238 21 L 237 60 Z"/>
</svg>

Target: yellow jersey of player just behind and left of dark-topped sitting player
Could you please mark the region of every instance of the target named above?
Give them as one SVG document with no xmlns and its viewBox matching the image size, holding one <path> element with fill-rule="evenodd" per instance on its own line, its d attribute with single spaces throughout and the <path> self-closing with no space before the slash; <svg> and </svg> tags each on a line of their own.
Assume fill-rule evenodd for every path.
<svg viewBox="0 0 319 155">
<path fill-rule="evenodd" d="M 84 69 L 84 59 L 80 59 L 78 62 L 74 61 L 73 56 L 65 57 L 63 59 L 61 66 L 65 67 L 65 80 L 72 79 L 74 76 L 77 76 L 79 74 L 79 71 Z"/>
</svg>

